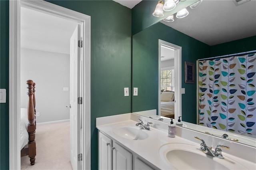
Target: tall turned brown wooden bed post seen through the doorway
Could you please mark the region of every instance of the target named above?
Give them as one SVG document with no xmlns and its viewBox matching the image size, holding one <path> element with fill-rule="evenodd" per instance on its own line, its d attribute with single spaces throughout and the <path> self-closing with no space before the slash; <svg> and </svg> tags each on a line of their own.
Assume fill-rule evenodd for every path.
<svg viewBox="0 0 256 170">
<path fill-rule="evenodd" d="M 35 141 L 35 122 L 34 122 L 34 104 L 33 104 L 33 81 L 28 80 L 27 82 L 28 85 L 28 157 L 30 157 L 30 164 L 34 165 L 35 164 L 35 156 L 36 156 L 36 141 Z"/>
</svg>

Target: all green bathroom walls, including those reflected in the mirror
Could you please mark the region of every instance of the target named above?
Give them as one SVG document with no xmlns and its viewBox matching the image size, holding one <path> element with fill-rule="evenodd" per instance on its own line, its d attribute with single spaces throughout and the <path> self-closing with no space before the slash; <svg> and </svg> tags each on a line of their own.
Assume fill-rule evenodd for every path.
<svg viewBox="0 0 256 170">
<path fill-rule="evenodd" d="M 147 24 L 140 25 L 137 19 L 134 19 L 136 13 L 133 13 L 132 17 L 134 9 L 130 10 L 112 0 L 49 2 L 91 16 L 92 170 L 98 169 L 96 117 L 158 108 L 158 39 L 182 46 L 182 88 L 186 89 L 186 94 L 182 95 L 182 119 L 191 123 L 196 122 L 196 114 L 192 114 L 196 113 L 196 83 L 184 83 L 184 61 L 196 63 L 198 58 L 255 49 L 255 36 L 210 47 L 162 23 L 154 24 L 148 21 Z M 0 88 L 6 89 L 8 94 L 9 1 L 0 0 L 0 9 Z M 131 26 L 133 34 L 138 33 L 132 37 L 133 52 Z M 141 30 L 143 31 L 140 32 Z M 159 33 L 159 30 L 164 31 Z M 124 87 L 130 88 L 130 96 L 131 87 L 139 88 L 139 95 L 133 98 L 132 103 L 130 96 L 123 96 Z M 1 170 L 9 167 L 8 95 L 6 101 L 7 103 L 0 104 Z"/>
</svg>

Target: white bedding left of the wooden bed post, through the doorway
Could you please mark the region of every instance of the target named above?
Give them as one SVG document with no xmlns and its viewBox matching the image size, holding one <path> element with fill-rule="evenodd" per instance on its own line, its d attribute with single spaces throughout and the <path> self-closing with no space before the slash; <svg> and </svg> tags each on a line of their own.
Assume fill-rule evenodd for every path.
<svg viewBox="0 0 256 170">
<path fill-rule="evenodd" d="M 28 144 L 28 109 L 20 108 L 20 150 Z"/>
</svg>

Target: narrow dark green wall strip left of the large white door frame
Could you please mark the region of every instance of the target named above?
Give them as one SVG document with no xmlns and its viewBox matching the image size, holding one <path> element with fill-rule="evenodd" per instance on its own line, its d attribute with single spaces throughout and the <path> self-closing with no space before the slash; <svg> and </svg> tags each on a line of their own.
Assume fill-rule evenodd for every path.
<svg viewBox="0 0 256 170">
<path fill-rule="evenodd" d="M 9 86 L 9 2 L 0 0 L 0 88 Z M 0 169 L 9 167 L 9 96 L 6 103 L 0 103 Z"/>
</svg>

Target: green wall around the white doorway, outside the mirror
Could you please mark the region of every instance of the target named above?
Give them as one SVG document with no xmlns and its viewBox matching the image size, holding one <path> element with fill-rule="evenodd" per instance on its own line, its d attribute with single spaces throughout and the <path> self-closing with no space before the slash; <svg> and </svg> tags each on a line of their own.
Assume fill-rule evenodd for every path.
<svg viewBox="0 0 256 170">
<path fill-rule="evenodd" d="M 9 2 L 1 2 L 1 87 L 8 92 Z M 95 118 L 131 112 L 131 10 L 112 0 L 56 0 L 53 4 L 91 16 L 91 169 L 98 169 Z M 131 93 L 130 93 L 131 94 Z M 7 99 L 8 101 L 8 99 Z M 1 165 L 9 167 L 8 103 L 1 103 Z"/>
</svg>

